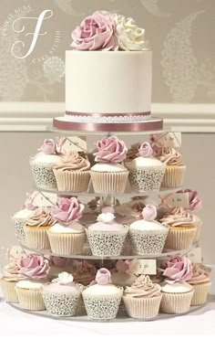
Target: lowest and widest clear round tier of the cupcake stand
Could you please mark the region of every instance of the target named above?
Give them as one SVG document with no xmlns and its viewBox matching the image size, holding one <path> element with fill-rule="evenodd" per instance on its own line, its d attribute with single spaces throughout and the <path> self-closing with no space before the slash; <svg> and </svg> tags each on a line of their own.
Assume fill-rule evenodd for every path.
<svg viewBox="0 0 215 339">
<path fill-rule="evenodd" d="M 56 320 L 67 320 L 67 321 L 72 321 L 72 322 L 91 322 L 91 323 L 123 323 L 123 322 L 151 322 L 151 321 L 159 321 L 159 320 L 164 320 L 164 319 L 170 319 L 170 318 L 174 318 L 174 317 L 179 317 L 179 316 L 183 316 L 189 313 L 194 313 L 195 311 L 198 311 L 200 309 L 203 309 L 208 302 L 205 302 L 201 305 L 198 306 L 191 306 L 189 308 L 189 312 L 187 313 L 179 313 L 179 314 L 168 314 L 168 313 L 159 313 L 157 315 L 157 317 L 152 318 L 152 319 L 135 319 L 135 318 L 130 318 L 128 317 L 126 310 L 122 309 L 118 311 L 118 315 L 117 318 L 114 319 L 105 319 L 105 320 L 99 320 L 99 319 L 90 319 L 87 317 L 87 315 L 75 315 L 73 317 L 66 317 L 66 316 L 54 316 L 51 315 L 49 313 L 47 313 L 47 311 L 28 311 L 28 310 L 24 310 L 23 308 L 21 308 L 21 306 L 19 305 L 19 303 L 12 303 L 12 302 L 7 302 L 9 305 L 11 305 L 12 307 L 14 307 L 16 310 L 21 311 L 23 313 L 28 313 L 28 314 L 32 314 L 32 315 L 36 315 L 36 316 L 40 316 L 40 317 L 44 317 L 44 318 L 49 318 L 49 319 L 56 319 Z"/>
</svg>

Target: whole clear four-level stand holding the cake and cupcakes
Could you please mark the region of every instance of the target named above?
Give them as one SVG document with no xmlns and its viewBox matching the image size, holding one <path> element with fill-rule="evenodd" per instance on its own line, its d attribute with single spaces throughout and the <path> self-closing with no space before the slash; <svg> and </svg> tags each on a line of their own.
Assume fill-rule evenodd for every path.
<svg viewBox="0 0 215 339">
<path fill-rule="evenodd" d="M 58 134 L 65 134 L 65 135 L 69 135 L 69 136 L 85 136 L 86 138 L 92 138 L 92 136 L 94 135 L 98 135 L 98 137 L 103 137 L 104 133 L 106 132 L 73 132 L 73 131 L 67 131 L 67 130 L 59 130 L 59 129 L 55 129 L 55 128 L 48 128 L 47 130 L 48 132 L 56 132 Z M 125 135 L 125 136 L 129 136 L 129 135 L 134 135 L 134 133 L 136 135 L 138 135 L 138 138 L 141 139 L 145 136 L 147 136 L 147 134 L 152 134 L 152 133 L 163 133 L 163 132 L 170 132 L 170 131 L 164 131 L 164 130 L 158 130 L 158 131 L 144 131 L 144 132 L 114 132 L 114 133 L 110 133 L 107 132 L 107 135 Z M 46 192 L 47 193 L 55 193 L 57 196 L 87 196 L 87 197 L 95 197 L 98 196 L 100 198 L 100 201 L 107 201 L 109 199 L 112 199 L 112 201 L 115 201 L 115 198 L 121 196 L 121 197 L 128 197 L 131 198 L 132 196 L 166 196 L 169 195 L 171 193 L 177 192 L 179 191 L 179 189 L 181 189 L 181 187 L 176 187 L 176 188 L 171 188 L 171 189 L 160 189 L 159 191 L 145 191 L 145 192 L 132 192 L 128 189 L 126 189 L 125 193 L 123 194 L 114 194 L 113 195 L 107 195 L 107 194 L 98 194 L 95 193 L 93 191 L 92 185 L 89 185 L 89 189 L 87 192 L 83 192 L 83 193 L 76 193 L 76 192 L 62 192 L 62 191 L 57 191 L 56 189 L 41 189 L 36 187 L 36 189 L 38 191 L 41 191 L 42 194 L 44 194 L 46 196 Z M 120 255 L 118 257 L 116 256 L 112 256 L 112 257 L 99 257 L 99 256 L 94 256 L 94 255 L 88 255 L 88 254 L 74 254 L 71 256 L 61 256 L 61 257 L 65 257 L 65 258 L 71 258 L 74 260 L 99 260 L 100 262 L 100 267 L 103 267 L 103 265 L 105 265 L 105 261 L 107 262 L 107 260 L 162 260 L 164 258 L 167 258 L 168 256 L 175 256 L 175 255 L 186 255 L 191 249 L 194 249 L 198 244 L 193 244 L 192 248 L 190 249 L 180 249 L 180 250 L 167 250 L 164 251 L 163 253 L 159 254 L 159 255 Z M 32 251 L 32 252 L 37 252 L 40 254 L 43 254 L 47 257 L 58 257 L 59 255 L 56 255 L 55 253 L 52 253 L 50 250 L 46 250 L 46 249 L 29 249 L 25 244 L 21 244 L 21 246 L 23 247 L 23 249 L 26 249 L 28 251 Z M 42 316 L 45 318 L 53 318 L 53 319 L 59 319 L 59 320 L 67 320 L 67 321 L 78 321 L 78 322 L 101 322 L 101 320 L 94 320 L 94 319 L 90 319 L 87 317 L 86 313 L 85 315 L 76 315 L 73 317 L 56 317 L 56 316 L 52 316 L 49 313 L 47 313 L 46 311 L 27 311 L 22 309 L 18 303 L 10 303 L 12 307 L 14 307 L 15 309 L 22 311 L 24 313 L 31 313 L 34 314 L 36 316 Z M 192 313 L 195 312 L 197 310 L 199 310 L 200 308 L 204 307 L 205 304 L 203 305 L 199 305 L 199 306 L 191 306 L 189 308 L 189 312 L 188 313 Z M 84 308 L 84 306 L 83 306 Z M 83 309 L 84 311 L 84 309 Z M 130 318 L 128 317 L 126 310 L 123 307 L 119 307 L 118 310 L 118 316 L 115 319 L 111 319 L 111 320 L 102 320 L 103 322 L 139 322 L 139 321 L 152 321 L 152 320 L 161 320 L 161 319 L 166 319 L 169 317 L 175 317 L 175 316 L 181 316 L 187 313 L 182 313 L 182 314 L 167 314 L 167 313 L 159 313 L 159 315 L 156 318 L 153 319 L 149 319 L 149 320 L 141 320 L 141 319 L 134 319 L 134 318 Z"/>
</svg>

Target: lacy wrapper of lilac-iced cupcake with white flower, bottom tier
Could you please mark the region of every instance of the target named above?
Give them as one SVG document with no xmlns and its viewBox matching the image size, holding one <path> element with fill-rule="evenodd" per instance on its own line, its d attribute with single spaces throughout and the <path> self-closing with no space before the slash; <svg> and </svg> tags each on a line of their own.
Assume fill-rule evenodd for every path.
<svg viewBox="0 0 215 339">
<path fill-rule="evenodd" d="M 77 313 L 80 293 L 43 291 L 43 300 L 48 313 L 71 317 Z"/>
</svg>

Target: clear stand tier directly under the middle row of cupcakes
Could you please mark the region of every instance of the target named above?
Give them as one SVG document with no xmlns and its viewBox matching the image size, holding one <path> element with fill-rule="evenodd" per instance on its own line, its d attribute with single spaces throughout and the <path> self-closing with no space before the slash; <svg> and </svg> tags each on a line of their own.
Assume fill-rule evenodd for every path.
<svg viewBox="0 0 215 339">
<path fill-rule="evenodd" d="M 64 255 L 64 254 L 56 254 L 53 253 L 50 249 L 30 249 L 26 246 L 26 244 L 20 243 L 20 246 L 23 249 L 29 250 L 30 252 L 36 252 L 43 254 L 45 256 L 50 257 L 62 257 L 62 258 L 71 258 L 71 259 L 77 259 L 77 260 L 141 260 L 141 259 L 164 259 L 169 256 L 176 256 L 176 255 L 185 255 L 187 254 L 191 249 L 195 249 L 197 244 L 193 244 L 192 247 L 189 249 L 167 249 L 162 253 L 159 254 L 132 254 L 132 255 L 119 255 L 119 256 L 94 256 L 92 254 L 85 254 L 88 248 L 86 249 L 86 252 L 83 254 L 71 254 L 71 255 Z M 85 251 L 85 249 L 84 249 Z"/>
</svg>

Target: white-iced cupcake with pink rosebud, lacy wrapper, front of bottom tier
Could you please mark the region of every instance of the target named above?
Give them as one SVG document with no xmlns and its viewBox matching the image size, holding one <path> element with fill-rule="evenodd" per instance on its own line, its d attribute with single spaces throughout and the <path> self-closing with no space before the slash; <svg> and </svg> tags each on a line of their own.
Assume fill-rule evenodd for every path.
<svg viewBox="0 0 215 339">
<path fill-rule="evenodd" d="M 110 281 L 109 270 L 97 270 L 95 283 L 82 291 L 89 318 L 98 320 L 116 318 L 123 289 L 113 285 Z"/>
</svg>

